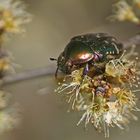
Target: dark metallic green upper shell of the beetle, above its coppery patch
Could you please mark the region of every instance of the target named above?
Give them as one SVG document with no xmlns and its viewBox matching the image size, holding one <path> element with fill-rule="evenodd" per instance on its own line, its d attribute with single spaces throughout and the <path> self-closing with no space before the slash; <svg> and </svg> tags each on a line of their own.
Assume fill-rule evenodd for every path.
<svg viewBox="0 0 140 140">
<path fill-rule="evenodd" d="M 103 59 L 106 59 L 107 55 L 119 57 L 122 54 L 122 50 L 122 44 L 112 36 L 105 33 L 86 34 L 71 39 L 64 50 L 64 57 L 68 60 L 77 58 L 76 56 L 81 52 L 90 54 L 98 52 L 104 56 Z"/>
</svg>

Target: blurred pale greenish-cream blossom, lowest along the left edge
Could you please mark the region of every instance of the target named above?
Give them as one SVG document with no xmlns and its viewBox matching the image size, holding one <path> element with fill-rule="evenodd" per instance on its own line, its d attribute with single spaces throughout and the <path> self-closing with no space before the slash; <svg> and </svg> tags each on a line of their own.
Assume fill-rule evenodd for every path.
<svg viewBox="0 0 140 140">
<path fill-rule="evenodd" d="M 0 91 L 0 134 L 16 127 L 21 120 L 18 105 L 10 103 L 11 95 Z"/>
</svg>

